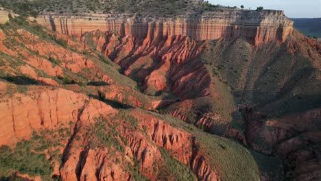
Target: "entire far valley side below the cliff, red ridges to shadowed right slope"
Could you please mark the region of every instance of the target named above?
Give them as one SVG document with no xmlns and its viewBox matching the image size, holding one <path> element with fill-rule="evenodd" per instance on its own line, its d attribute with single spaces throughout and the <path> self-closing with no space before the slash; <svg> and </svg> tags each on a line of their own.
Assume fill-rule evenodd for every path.
<svg viewBox="0 0 321 181">
<path fill-rule="evenodd" d="M 98 39 L 91 38 L 92 35 L 85 34 L 82 39 L 85 42 Z M 117 62 L 126 75 L 137 76 L 134 78 L 141 82 L 145 93 L 150 93 L 150 89 L 154 93 L 169 90 L 175 93 L 179 101 L 171 104 L 167 112 L 182 121 L 235 137 L 265 154 L 287 152 L 283 158 L 292 161 L 296 157 L 289 153 L 306 152 L 309 145 L 313 152 L 309 152 L 307 161 L 311 159 L 313 169 L 301 171 L 298 168 L 303 163 L 296 161 L 296 167 L 287 169 L 287 177 L 295 180 L 319 177 L 320 157 L 314 154 L 320 152 L 316 147 L 320 143 L 321 102 L 318 42 L 298 32 L 288 36 L 285 43 L 272 40 L 258 46 L 233 37 L 196 41 L 170 36 L 169 41 L 158 38 L 157 30 L 151 35 L 148 32 L 147 38 L 141 40 L 107 33 L 106 42 L 102 40 L 99 45 L 96 41 L 95 46 Z M 180 41 L 182 38 L 184 41 Z M 171 48 L 166 49 L 167 45 Z M 227 86 L 219 82 L 226 82 Z M 241 122 L 235 104 L 245 105 L 240 110 L 246 122 Z M 255 121 L 248 116 L 253 110 L 259 112 L 254 113 Z M 313 137 L 302 135 L 304 141 L 293 148 L 284 143 L 281 147 L 289 147 L 288 151 L 276 148 L 303 132 Z"/>
</svg>

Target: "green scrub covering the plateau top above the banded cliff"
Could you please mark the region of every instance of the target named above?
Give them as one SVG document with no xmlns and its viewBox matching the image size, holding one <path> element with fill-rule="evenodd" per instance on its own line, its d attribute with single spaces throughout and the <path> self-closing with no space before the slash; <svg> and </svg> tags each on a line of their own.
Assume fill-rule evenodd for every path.
<svg viewBox="0 0 321 181">
<path fill-rule="evenodd" d="M 134 13 L 150 16 L 176 16 L 187 12 L 205 12 L 219 10 L 219 5 L 209 1 L 193 0 L 0 0 L 0 5 L 24 16 L 37 16 L 39 12 L 56 12 L 59 14 L 90 14 L 90 13 Z M 161 11 L 160 11 L 161 10 Z"/>
</svg>

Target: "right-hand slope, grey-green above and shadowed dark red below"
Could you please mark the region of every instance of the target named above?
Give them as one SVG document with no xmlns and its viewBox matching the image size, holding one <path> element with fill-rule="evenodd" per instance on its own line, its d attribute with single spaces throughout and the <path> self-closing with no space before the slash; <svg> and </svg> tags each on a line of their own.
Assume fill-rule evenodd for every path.
<svg viewBox="0 0 321 181">
<path fill-rule="evenodd" d="M 222 40 L 204 58 L 233 90 L 247 143 L 286 159 L 289 179 L 318 180 L 320 44 L 298 32 L 281 45 Z"/>
</svg>

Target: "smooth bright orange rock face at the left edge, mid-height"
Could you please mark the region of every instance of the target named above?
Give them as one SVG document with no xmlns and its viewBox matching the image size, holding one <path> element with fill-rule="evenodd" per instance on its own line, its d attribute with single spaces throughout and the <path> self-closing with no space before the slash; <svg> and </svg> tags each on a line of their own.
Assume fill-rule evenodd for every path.
<svg viewBox="0 0 321 181">
<path fill-rule="evenodd" d="M 6 85 L 1 83 L 1 88 Z M 69 101 L 66 101 L 69 100 Z M 100 112 L 115 112 L 112 107 L 73 91 L 56 89 L 32 96 L 17 95 L 0 103 L 0 145 L 11 145 L 30 138 L 32 130 L 53 129 L 61 123 L 88 121 Z"/>
</svg>

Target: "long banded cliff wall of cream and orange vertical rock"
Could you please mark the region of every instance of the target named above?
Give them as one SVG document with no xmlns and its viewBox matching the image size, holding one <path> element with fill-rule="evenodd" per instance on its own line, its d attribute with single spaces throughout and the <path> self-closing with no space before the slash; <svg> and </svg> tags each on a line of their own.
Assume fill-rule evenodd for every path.
<svg viewBox="0 0 321 181">
<path fill-rule="evenodd" d="M 120 36 L 162 39 L 184 35 L 194 40 L 244 37 L 254 45 L 271 40 L 284 42 L 293 30 L 293 22 L 283 11 L 224 10 L 200 14 L 187 14 L 176 18 L 128 17 L 124 14 L 91 14 L 91 16 L 66 16 L 45 14 L 38 23 L 68 35 L 82 36 L 93 30 L 113 31 Z M 154 32 L 154 34 L 148 34 Z"/>
</svg>

